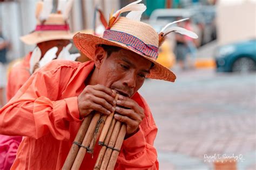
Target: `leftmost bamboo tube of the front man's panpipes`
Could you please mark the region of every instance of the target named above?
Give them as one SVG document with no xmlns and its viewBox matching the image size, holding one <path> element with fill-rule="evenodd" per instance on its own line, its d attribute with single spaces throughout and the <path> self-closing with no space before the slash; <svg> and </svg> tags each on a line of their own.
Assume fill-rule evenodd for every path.
<svg viewBox="0 0 256 170">
<path fill-rule="evenodd" d="M 77 143 L 79 143 L 79 144 L 82 143 L 82 141 L 84 139 L 84 136 L 85 136 L 85 133 L 86 133 L 86 131 L 87 131 L 89 125 L 90 125 L 92 116 L 93 116 L 93 114 L 90 114 L 87 117 L 85 117 L 83 123 L 80 125 L 80 128 L 79 128 L 79 130 L 77 132 L 77 136 L 76 136 L 76 138 L 74 140 Z M 62 167 L 63 170 L 64 169 L 68 170 L 68 169 L 71 168 L 71 166 L 73 165 L 73 162 L 76 159 L 76 155 L 78 153 L 78 150 L 79 150 L 79 146 L 76 145 L 76 144 L 72 144 L 72 146 L 70 148 L 70 151 L 69 151 L 69 154 L 68 154 L 68 157 L 66 157 L 64 165 Z"/>
</svg>

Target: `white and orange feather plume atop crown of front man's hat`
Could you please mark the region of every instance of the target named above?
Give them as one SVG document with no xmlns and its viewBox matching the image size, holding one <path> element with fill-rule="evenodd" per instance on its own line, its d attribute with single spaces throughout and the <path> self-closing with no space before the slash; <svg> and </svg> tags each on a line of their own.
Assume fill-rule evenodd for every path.
<svg viewBox="0 0 256 170">
<path fill-rule="evenodd" d="M 135 1 L 133 3 L 130 3 L 124 6 L 124 8 L 118 10 L 114 14 L 111 13 L 109 18 L 109 25 L 107 25 L 107 29 L 110 29 L 114 25 L 114 23 L 116 23 L 118 17 L 123 12 L 131 11 L 127 14 L 126 17 L 133 20 L 140 20 L 142 13 L 146 10 L 146 6 L 144 4 L 138 4 L 140 2 L 142 1 Z"/>
</svg>

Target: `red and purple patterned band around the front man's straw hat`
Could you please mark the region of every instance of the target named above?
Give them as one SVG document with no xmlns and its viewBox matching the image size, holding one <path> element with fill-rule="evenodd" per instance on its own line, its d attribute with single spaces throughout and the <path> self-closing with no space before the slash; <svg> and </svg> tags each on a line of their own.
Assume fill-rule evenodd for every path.
<svg viewBox="0 0 256 170">
<path fill-rule="evenodd" d="M 152 60 L 157 59 L 158 47 L 145 44 L 142 40 L 132 36 L 131 34 L 120 31 L 105 30 L 103 38 L 125 44 L 129 48 L 137 51 L 138 53 L 149 56 L 149 58 L 151 58 Z"/>
</svg>

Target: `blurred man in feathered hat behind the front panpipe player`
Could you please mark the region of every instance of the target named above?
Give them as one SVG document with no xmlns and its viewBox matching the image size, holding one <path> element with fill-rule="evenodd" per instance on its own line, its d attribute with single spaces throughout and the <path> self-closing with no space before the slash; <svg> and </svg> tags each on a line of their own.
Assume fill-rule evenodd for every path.
<svg viewBox="0 0 256 170">
<path fill-rule="evenodd" d="M 52 59 L 75 60 L 77 56 L 79 56 L 69 53 L 69 48 L 71 47 L 70 40 L 73 37 L 73 34 L 70 33 L 69 25 L 67 24 L 69 11 L 65 12 L 65 16 L 62 14 L 63 11 L 60 10 L 61 6 L 58 6 L 58 9 L 58 13 L 51 13 L 52 6 L 50 4 L 44 5 L 43 2 L 37 3 L 36 29 L 21 37 L 21 40 L 25 44 L 36 45 L 36 47 L 33 52 L 29 52 L 21 61 L 14 63 L 10 68 L 6 86 L 8 101 L 15 96 L 19 88 L 23 86 L 31 74 L 39 67 L 43 67 Z M 68 6 L 68 9 L 71 10 L 71 6 Z M 3 48 L 3 50 L 6 49 Z M 0 61 L 5 61 L 2 50 L 0 54 Z M 2 73 L 1 70 L 1 74 Z M 5 74 L 5 72 L 3 74 Z M 2 77 L 1 75 L 1 79 Z M 10 169 L 16 158 L 17 148 L 21 140 L 21 136 L 11 137 L 0 135 L 0 169 Z"/>
</svg>

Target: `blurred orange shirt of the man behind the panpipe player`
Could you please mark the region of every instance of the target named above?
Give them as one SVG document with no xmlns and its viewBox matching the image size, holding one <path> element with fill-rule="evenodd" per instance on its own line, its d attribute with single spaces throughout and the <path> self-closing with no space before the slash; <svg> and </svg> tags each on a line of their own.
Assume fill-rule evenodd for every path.
<svg viewBox="0 0 256 170">
<path fill-rule="evenodd" d="M 18 89 L 29 79 L 29 61 L 32 52 L 25 56 L 19 63 L 15 64 L 8 74 L 8 82 L 6 85 L 7 101 L 17 93 Z"/>
</svg>

